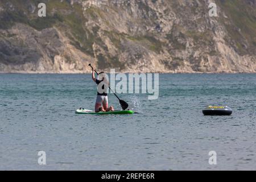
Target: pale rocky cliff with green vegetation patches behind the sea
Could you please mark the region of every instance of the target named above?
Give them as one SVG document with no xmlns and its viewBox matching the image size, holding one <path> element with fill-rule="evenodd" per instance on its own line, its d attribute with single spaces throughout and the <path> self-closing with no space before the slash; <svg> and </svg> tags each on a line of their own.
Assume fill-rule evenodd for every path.
<svg viewBox="0 0 256 182">
<path fill-rule="evenodd" d="M 256 72 L 255 0 L 40 2 L 0 1 L 0 72 Z"/>
</svg>

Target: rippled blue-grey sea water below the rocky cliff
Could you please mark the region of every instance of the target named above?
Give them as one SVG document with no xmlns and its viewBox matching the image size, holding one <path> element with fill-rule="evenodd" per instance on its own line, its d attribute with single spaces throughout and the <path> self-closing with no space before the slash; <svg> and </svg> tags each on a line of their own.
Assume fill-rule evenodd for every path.
<svg viewBox="0 0 256 182">
<path fill-rule="evenodd" d="M 96 92 L 90 75 L 0 75 L 0 169 L 256 170 L 255 74 L 163 74 L 158 100 L 119 94 L 136 114 L 76 115 Z M 233 114 L 204 116 L 208 105 Z"/>
</svg>

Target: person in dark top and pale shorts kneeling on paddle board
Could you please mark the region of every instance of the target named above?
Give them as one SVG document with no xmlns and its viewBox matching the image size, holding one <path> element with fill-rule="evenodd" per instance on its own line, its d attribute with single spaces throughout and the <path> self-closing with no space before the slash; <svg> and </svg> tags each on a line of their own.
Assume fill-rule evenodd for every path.
<svg viewBox="0 0 256 182">
<path fill-rule="evenodd" d="M 102 112 L 114 111 L 113 106 L 108 107 L 109 103 L 108 103 L 107 90 L 108 90 L 109 82 L 105 76 L 105 73 L 101 72 L 96 79 L 94 69 L 92 68 L 92 79 L 98 85 L 97 99 L 96 99 L 96 103 L 95 103 L 96 113 L 100 112 L 100 111 L 102 111 Z M 101 104 L 103 107 L 101 107 Z"/>
</svg>

